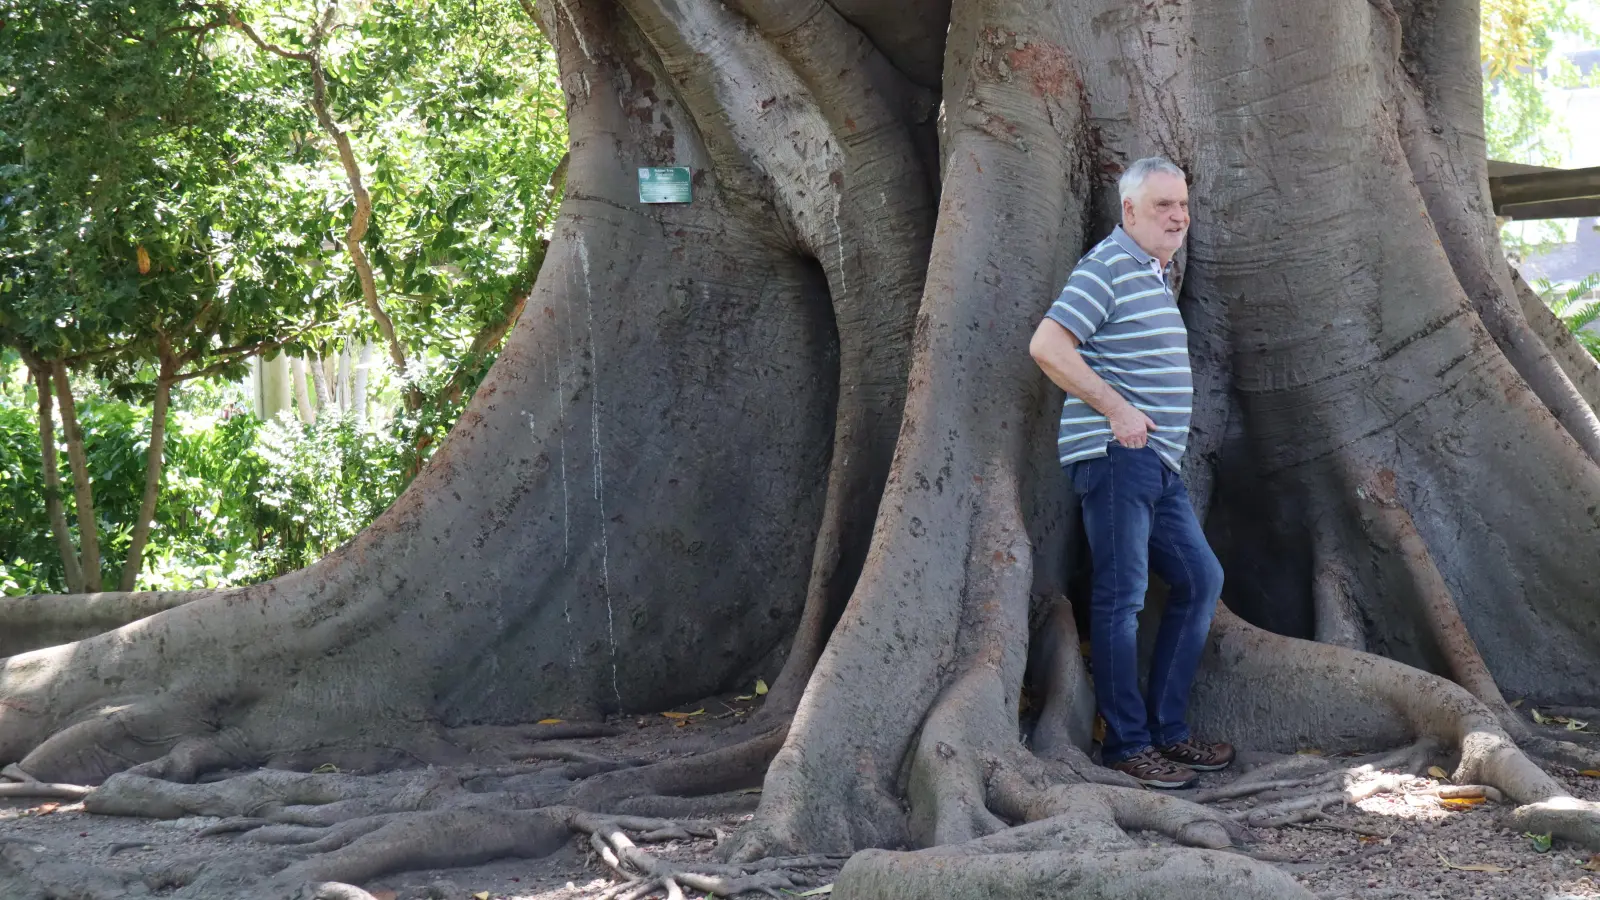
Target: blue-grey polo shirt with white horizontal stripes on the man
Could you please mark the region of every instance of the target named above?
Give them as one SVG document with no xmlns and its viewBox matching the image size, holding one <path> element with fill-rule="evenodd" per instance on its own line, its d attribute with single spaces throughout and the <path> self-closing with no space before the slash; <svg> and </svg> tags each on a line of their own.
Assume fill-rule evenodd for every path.
<svg viewBox="0 0 1600 900">
<path fill-rule="evenodd" d="M 1083 362 L 1155 423 L 1150 447 L 1179 469 L 1189 444 L 1194 380 L 1189 331 L 1162 263 L 1117 226 L 1067 279 L 1046 315 L 1078 340 Z M 1110 423 L 1067 396 L 1056 439 L 1061 464 L 1106 455 Z"/>
</svg>

